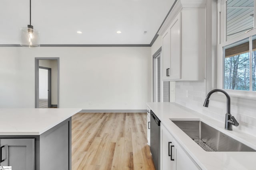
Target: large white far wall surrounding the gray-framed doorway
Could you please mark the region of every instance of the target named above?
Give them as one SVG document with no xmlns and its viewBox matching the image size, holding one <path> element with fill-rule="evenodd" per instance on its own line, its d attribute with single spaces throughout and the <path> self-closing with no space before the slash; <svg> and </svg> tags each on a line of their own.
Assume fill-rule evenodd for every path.
<svg viewBox="0 0 256 170">
<path fill-rule="evenodd" d="M 0 47 L 0 107 L 33 108 L 35 57 L 60 57 L 60 108 L 146 109 L 150 47 Z"/>
</svg>

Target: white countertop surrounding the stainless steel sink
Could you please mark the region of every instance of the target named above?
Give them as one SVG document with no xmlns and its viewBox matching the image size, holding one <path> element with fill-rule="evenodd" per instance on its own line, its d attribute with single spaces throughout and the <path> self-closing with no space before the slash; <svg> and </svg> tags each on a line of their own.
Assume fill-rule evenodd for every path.
<svg viewBox="0 0 256 170">
<path fill-rule="evenodd" d="M 224 121 L 216 121 L 176 103 L 147 103 L 147 106 L 202 170 L 256 170 L 256 152 L 206 152 L 170 119 L 203 121 L 253 149 L 256 149 L 256 137 L 234 128 L 233 131 L 225 130 Z"/>
</svg>

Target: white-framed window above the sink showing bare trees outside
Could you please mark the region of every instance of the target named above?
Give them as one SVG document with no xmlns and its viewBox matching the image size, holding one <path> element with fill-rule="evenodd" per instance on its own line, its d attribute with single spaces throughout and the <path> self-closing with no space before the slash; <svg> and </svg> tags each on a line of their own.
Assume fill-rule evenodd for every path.
<svg viewBox="0 0 256 170">
<path fill-rule="evenodd" d="M 255 97 L 256 30 L 254 1 L 220 0 L 218 86 L 239 96 Z"/>
</svg>

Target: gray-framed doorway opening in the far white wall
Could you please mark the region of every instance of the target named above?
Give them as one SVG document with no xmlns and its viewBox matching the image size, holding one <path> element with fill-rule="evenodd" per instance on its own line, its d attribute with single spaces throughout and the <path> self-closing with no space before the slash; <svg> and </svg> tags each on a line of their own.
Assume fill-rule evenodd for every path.
<svg viewBox="0 0 256 170">
<path fill-rule="evenodd" d="M 59 108 L 59 58 L 35 58 L 35 108 Z"/>
</svg>

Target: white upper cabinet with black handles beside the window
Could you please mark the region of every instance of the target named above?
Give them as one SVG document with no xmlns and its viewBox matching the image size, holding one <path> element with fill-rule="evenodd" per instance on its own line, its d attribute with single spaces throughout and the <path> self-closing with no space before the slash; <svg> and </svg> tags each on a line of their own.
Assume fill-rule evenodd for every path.
<svg viewBox="0 0 256 170">
<path fill-rule="evenodd" d="M 178 1 L 158 32 L 162 35 L 162 80 L 205 78 L 205 5 L 203 0 L 200 4 L 192 1 Z"/>
</svg>

